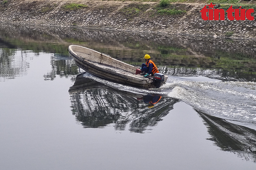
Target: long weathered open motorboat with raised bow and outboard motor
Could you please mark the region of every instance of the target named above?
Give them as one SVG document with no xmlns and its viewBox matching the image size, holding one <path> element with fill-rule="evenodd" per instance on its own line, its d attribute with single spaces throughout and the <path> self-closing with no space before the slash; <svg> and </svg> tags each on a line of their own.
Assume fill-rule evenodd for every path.
<svg viewBox="0 0 256 170">
<path fill-rule="evenodd" d="M 140 74 L 136 75 L 138 67 L 86 47 L 71 45 L 68 50 L 69 54 L 74 57 L 77 66 L 103 79 L 143 88 L 158 88 L 166 83 L 168 78 L 167 75 L 161 73 L 155 73 L 154 77 L 146 78 Z"/>
</svg>

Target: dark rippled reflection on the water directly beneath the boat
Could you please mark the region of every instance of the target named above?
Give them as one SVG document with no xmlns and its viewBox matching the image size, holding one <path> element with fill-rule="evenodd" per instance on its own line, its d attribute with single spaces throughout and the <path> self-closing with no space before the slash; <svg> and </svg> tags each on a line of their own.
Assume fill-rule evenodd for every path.
<svg viewBox="0 0 256 170">
<path fill-rule="evenodd" d="M 179 101 L 120 89 L 86 78 L 83 74 L 77 75 L 69 89 L 76 120 L 84 128 L 102 128 L 113 123 L 116 130 L 125 130 L 129 125 L 129 131 L 143 133 L 161 121 Z"/>
</svg>

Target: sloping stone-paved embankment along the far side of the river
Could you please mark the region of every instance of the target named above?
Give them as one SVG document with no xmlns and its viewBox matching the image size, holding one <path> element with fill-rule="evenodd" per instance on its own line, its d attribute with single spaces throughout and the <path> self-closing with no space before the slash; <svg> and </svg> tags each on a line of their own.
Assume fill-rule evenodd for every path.
<svg viewBox="0 0 256 170">
<path fill-rule="evenodd" d="M 72 10 L 64 6 L 84 4 Z M 0 24 L 27 27 L 100 28 L 159 34 L 184 34 L 212 38 L 256 38 L 256 22 L 250 20 L 204 21 L 203 3 L 172 3 L 185 13 L 160 15 L 159 2 L 92 0 L 0 0 Z M 253 15 L 255 15 L 253 13 Z"/>
</svg>

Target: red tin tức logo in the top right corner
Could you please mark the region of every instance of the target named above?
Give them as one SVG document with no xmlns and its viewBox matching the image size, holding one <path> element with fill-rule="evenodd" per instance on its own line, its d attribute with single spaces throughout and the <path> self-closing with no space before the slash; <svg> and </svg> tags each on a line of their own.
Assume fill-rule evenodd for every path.
<svg viewBox="0 0 256 170">
<path fill-rule="evenodd" d="M 206 6 L 209 6 L 206 8 Z M 214 9 L 214 5 L 205 5 L 200 11 L 201 17 L 203 20 L 225 20 L 225 11 L 223 9 Z M 239 9 L 233 9 L 232 5 L 228 8 L 227 17 L 229 20 L 254 20 L 252 13 L 254 13 L 254 9 L 242 9 L 241 6 Z M 233 15 L 234 13 L 234 15 Z M 208 14 L 208 15 L 207 15 Z"/>
</svg>

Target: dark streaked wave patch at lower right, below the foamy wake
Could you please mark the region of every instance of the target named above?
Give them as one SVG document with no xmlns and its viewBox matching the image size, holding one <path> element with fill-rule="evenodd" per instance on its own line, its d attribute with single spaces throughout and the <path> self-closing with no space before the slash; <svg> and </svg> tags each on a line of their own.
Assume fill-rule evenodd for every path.
<svg viewBox="0 0 256 170">
<path fill-rule="evenodd" d="M 255 130 L 197 112 L 211 135 L 211 138 L 208 139 L 214 141 L 216 146 L 223 151 L 233 152 L 239 157 L 256 162 Z"/>
</svg>

